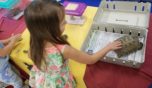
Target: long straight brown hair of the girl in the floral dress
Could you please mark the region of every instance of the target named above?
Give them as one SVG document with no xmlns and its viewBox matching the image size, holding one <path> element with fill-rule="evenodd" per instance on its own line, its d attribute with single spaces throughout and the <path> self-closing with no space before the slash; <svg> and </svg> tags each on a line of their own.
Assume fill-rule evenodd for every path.
<svg viewBox="0 0 152 88">
<path fill-rule="evenodd" d="M 60 23 L 64 19 L 64 8 L 51 0 L 35 0 L 25 9 L 25 22 L 30 32 L 30 56 L 40 69 L 44 59 L 45 42 L 69 44 L 61 37 Z"/>
</svg>

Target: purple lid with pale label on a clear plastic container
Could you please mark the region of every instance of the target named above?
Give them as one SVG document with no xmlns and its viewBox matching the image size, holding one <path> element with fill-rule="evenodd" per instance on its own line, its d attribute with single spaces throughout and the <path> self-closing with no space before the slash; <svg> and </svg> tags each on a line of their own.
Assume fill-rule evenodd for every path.
<svg viewBox="0 0 152 88">
<path fill-rule="evenodd" d="M 87 7 L 85 3 L 69 2 L 69 1 L 64 1 L 63 5 L 65 7 L 66 14 L 73 16 L 82 16 L 84 10 Z"/>
</svg>

